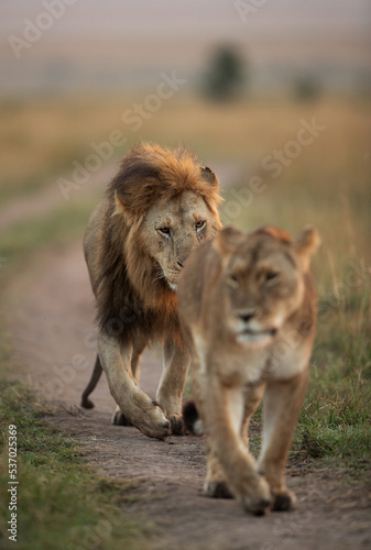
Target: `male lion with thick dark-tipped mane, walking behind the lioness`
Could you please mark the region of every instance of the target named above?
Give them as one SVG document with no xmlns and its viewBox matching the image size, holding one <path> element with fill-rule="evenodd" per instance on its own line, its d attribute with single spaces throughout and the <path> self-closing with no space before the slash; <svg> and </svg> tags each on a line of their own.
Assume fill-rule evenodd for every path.
<svg viewBox="0 0 371 550">
<path fill-rule="evenodd" d="M 190 355 L 177 316 L 176 287 L 189 252 L 221 223 L 215 173 L 185 147 L 140 144 L 122 161 L 91 215 L 84 252 L 97 301 L 98 355 L 81 406 L 102 370 L 118 407 L 112 421 L 145 436 L 183 433 L 182 397 Z M 139 387 L 141 355 L 163 343 L 156 400 Z"/>
</svg>

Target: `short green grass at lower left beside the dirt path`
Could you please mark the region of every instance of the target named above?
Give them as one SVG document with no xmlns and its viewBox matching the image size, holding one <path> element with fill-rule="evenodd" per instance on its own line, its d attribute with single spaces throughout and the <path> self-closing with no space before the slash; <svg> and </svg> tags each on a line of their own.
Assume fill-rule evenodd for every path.
<svg viewBox="0 0 371 550">
<path fill-rule="evenodd" d="M 15 382 L 1 380 L 0 546 L 8 539 L 8 427 L 18 431 L 18 542 L 26 550 L 151 548 L 154 526 L 124 513 L 131 503 L 129 481 L 98 477 L 85 464 L 79 446 L 41 419 L 43 405 Z"/>
</svg>

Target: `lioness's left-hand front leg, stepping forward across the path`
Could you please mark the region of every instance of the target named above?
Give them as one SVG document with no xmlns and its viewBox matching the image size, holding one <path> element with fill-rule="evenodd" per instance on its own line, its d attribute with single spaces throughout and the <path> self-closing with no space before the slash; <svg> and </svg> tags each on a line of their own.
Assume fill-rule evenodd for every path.
<svg viewBox="0 0 371 550">
<path fill-rule="evenodd" d="M 255 460 L 241 438 L 243 391 L 240 387 L 226 387 L 216 378 L 206 380 L 205 385 L 207 392 L 204 392 L 203 416 L 212 449 L 208 461 L 212 454 L 218 458 L 228 487 L 245 509 L 264 514 L 270 505 L 270 487 L 259 474 Z M 212 464 L 209 465 L 211 471 Z"/>
</svg>

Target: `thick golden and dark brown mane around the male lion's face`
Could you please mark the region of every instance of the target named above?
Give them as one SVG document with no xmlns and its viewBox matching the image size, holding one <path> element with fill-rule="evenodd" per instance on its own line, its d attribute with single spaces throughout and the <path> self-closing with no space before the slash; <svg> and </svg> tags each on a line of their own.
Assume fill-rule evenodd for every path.
<svg viewBox="0 0 371 550">
<path fill-rule="evenodd" d="M 155 280 L 159 266 L 151 257 L 141 223 L 151 206 L 165 206 L 188 190 L 204 198 L 219 229 L 218 182 L 184 147 L 171 151 L 139 145 L 124 157 L 107 188 L 95 289 L 97 322 L 99 330 L 123 343 L 133 342 L 140 333 L 149 340 L 161 340 L 164 333 L 181 340 L 176 294 L 164 279 Z M 117 212 L 117 197 L 126 216 Z"/>
</svg>

